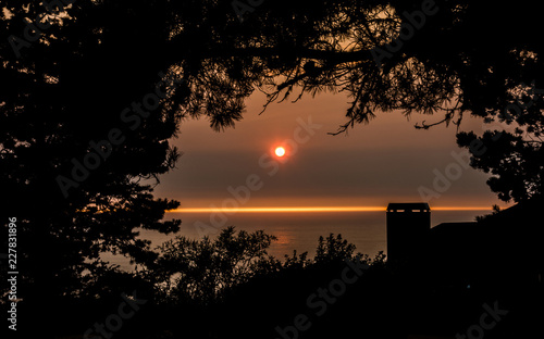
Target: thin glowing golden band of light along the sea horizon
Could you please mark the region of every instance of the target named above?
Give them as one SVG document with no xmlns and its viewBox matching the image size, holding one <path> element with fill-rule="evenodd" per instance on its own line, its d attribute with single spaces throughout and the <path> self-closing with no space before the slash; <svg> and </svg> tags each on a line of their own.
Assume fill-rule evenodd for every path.
<svg viewBox="0 0 544 339">
<path fill-rule="evenodd" d="M 431 211 L 491 211 L 491 206 L 436 206 Z M 166 213 L 263 213 L 263 212 L 385 212 L 386 206 L 285 206 L 285 208 L 187 208 L 166 211 Z"/>
</svg>

